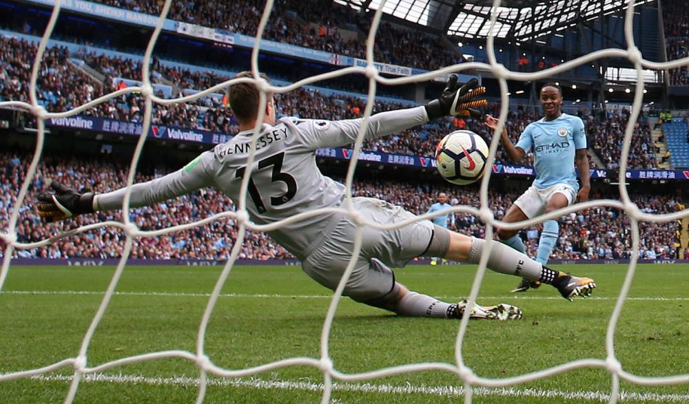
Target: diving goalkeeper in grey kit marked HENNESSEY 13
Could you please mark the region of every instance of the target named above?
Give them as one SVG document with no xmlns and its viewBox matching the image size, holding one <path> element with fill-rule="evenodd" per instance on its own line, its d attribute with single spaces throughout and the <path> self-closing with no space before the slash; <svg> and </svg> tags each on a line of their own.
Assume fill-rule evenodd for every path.
<svg viewBox="0 0 689 404">
<path fill-rule="evenodd" d="M 237 77 L 251 77 L 251 73 L 243 72 Z M 472 90 L 476 87 L 475 79 L 460 87 L 457 76 L 453 75 L 444 92 L 427 105 L 372 116 L 365 128 L 365 137 L 378 138 L 443 116 L 462 114 L 466 106 L 464 101 L 472 98 Z M 258 88 L 254 83 L 231 85 L 229 100 L 240 132 L 232 140 L 201 153 L 174 173 L 134 184 L 130 206 L 150 206 L 204 187 L 215 187 L 238 202 L 258 116 Z M 329 121 L 285 117 L 276 120 L 274 97 L 268 94 L 265 117 L 256 140 L 254 165 L 249 167 L 247 199 L 250 200 L 246 206 L 251 220 L 269 224 L 316 209 L 342 207 L 345 187 L 320 173 L 316 150 L 351 144 L 362 123 L 362 118 Z M 41 195 L 38 204 L 39 215 L 48 221 L 121 209 L 125 196 L 124 188 L 99 195 L 76 193 L 58 182 L 53 182 L 52 188 L 55 194 Z M 373 198 L 353 198 L 353 209 L 358 217 L 378 224 L 395 224 L 416 217 L 400 206 Z M 345 213 L 323 213 L 285 223 L 268 233 L 300 259 L 309 277 L 335 290 L 352 256 L 356 222 Z M 499 273 L 552 284 L 566 299 L 589 295 L 595 288 L 593 279 L 551 270 L 504 244 L 454 233 L 429 220 L 418 220 L 393 230 L 364 227 L 362 240 L 360 254 L 343 294 L 402 316 L 457 318 L 466 310 L 466 303 L 449 304 L 411 292 L 395 281 L 389 267 L 404 266 L 409 260 L 422 256 L 475 264 L 489 243 L 493 244 L 493 250 L 488 266 Z M 476 305 L 471 313 L 472 317 L 489 319 L 522 316 L 518 308 L 507 304 Z"/>
</svg>

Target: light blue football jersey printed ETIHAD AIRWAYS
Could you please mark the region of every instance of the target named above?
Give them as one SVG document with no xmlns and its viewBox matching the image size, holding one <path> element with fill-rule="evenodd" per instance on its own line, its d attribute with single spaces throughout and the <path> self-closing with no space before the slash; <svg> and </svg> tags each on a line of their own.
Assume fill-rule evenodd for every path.
<svg viewBox="0 0 689 404">
<path fill-rule="evenodd" d="M 541 118 L 522 132 L 517 147 L 533 151 L 536 180 L 533 186 L 544 189 L 555 184 L 569 184 L 579 190 L 574 156 L 586 149 L 584 121 L 578 116 L 562 114 L 553 120 Z"/>
</svg>

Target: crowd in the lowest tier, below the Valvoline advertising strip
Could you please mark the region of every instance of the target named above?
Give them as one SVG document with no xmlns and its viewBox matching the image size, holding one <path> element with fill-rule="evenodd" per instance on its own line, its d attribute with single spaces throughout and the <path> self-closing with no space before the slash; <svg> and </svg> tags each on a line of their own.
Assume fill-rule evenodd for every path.
<svg viewBox="0 0 689 404">
<path fill-rule="evenodd" d="M 7 231 L 16 202 L 17 192 L 25 177 L 31 156 L 0 153 L 2 194 L 0 195 L 0 223 Z M 99 158 L 59 158 L 45 153 L 39 164 L 37 175 L 20 209 L 17 224 L 19 242 L 37 242 L 58 235 L 85 224 L 121 220 L 121 213 L 100 212 L 83 215 L 74 220 L 55 224 L 41 222 L 35 211 L 35 198 L 48 188 L 51 180 L 81 189 L 86 187 L 96 192 L 117 189 L 125 184 L 128 162 L 119 162 L 101 156 Z M 172 167 L 155 167 L 156 173 L 171 170 Z M 150 180 L 152 175 L 137 175 L 136 182 Z M 435 182 L 393 182 L 390 180 L 357 180 L 354 195 L 369 196 L 387 200 L 405 209 L 423 214 L 435 202 L 439 192 L 448 193 L 453 205 L 479 206 L 475 189 L 457 187 Z M 520 193 L 499 193 L 491 191 L 490 204 L 498 219 Z M 610 195 L 594 193 L 593 198 L 610 198 Z M 615 198 L 614 196 L 612 198 Z M 654 195 L 632 195 L 641 211 L 647 213 L 668 213 L 681 206 L 670 197 Z M 130 220 L 141 230 L 151 231 L 169 226 L 187 224 L 223 211 L 234 210 L 234 204 L 214 189 L 203 189 L 190 195 L 170 200 L 156 206 L 132 209 Z M 485 226 L 476 217 L 457 213 L 456 230 L 461 233 L 483 237 Z M 640 223 L 641 257 L 647 259 L 675 258 L 677 255 L 677 230 L 675 222 Z M 529 254 L 535 256 L 539 226 L 522 231 Z M 236 237 L 234 220 L 217 220 L 205 226 L 175 231 L 168 235 L 136 239 L 132 257 L 145 259 L 226 259 Z M 18 257 L 43 257 L 65 259 L 68 257 L 110 258 L 119 257 L 124 246 L 123 232 L 118 228 L 101 227 L 85 233 L 78 233 L 57 240 L 49 246 L 30 250 L 17 250 Z M 586 212 L 571 213 L 560 220 L 560 238 L 553 251 L 553 257 L 562 259 L 618 259 L 631 253 L 630 221 L 617 209 L 596 208 Z M 240 259 L 289 258 L 287 251 L 274 243 L 264 233 L 249 231 L 240 253 Z"/>
</svg>

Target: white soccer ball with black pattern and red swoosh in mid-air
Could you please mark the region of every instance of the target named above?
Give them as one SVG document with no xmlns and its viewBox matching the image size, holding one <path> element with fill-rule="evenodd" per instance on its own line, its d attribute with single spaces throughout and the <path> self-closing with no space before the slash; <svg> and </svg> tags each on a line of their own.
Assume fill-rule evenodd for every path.
<svg viewBox="0 0 689 404">
<path fill-rule="evenodd" d="M 472 131 L 453 131 L 435 147 L 435 160 L 442 178 L 457 185 L 476 182 L 483 176 L 488 145 Z"/>
</svg>

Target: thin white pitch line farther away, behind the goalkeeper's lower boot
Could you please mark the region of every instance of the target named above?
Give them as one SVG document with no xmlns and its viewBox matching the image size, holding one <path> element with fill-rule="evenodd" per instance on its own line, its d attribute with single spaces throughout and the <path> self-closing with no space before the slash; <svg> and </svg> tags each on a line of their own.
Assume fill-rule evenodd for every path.
<svg viewBox="0 0 689 404">
<path fill-rule="evenodd" d="M 105 292 L 93 290 L 2 290 L 0 295 L 96 295 L 102 296 Z M 166 296 L 166 297 L 210 297 L 210 293 L 174 293 L 174 292 L 115 292 L 117 296 Z M 276 298 L 276 299 L 331 299 L 332 295 L 269 295 L 247 293 L 225 293 L 220 297 L 247 297 L 247 298 Z M 438 299 L 457 299 L 457 296 L 437 296 Z M 562 300 L 557 296 L 480 296 L 480 299 L 511 299 L 511 300 Z M 586 300 L 617 300 L 617 297 L 587 297 Z M 627 297 L 633 301 L 689 301 L 689 297 Z"/>
</svg>

